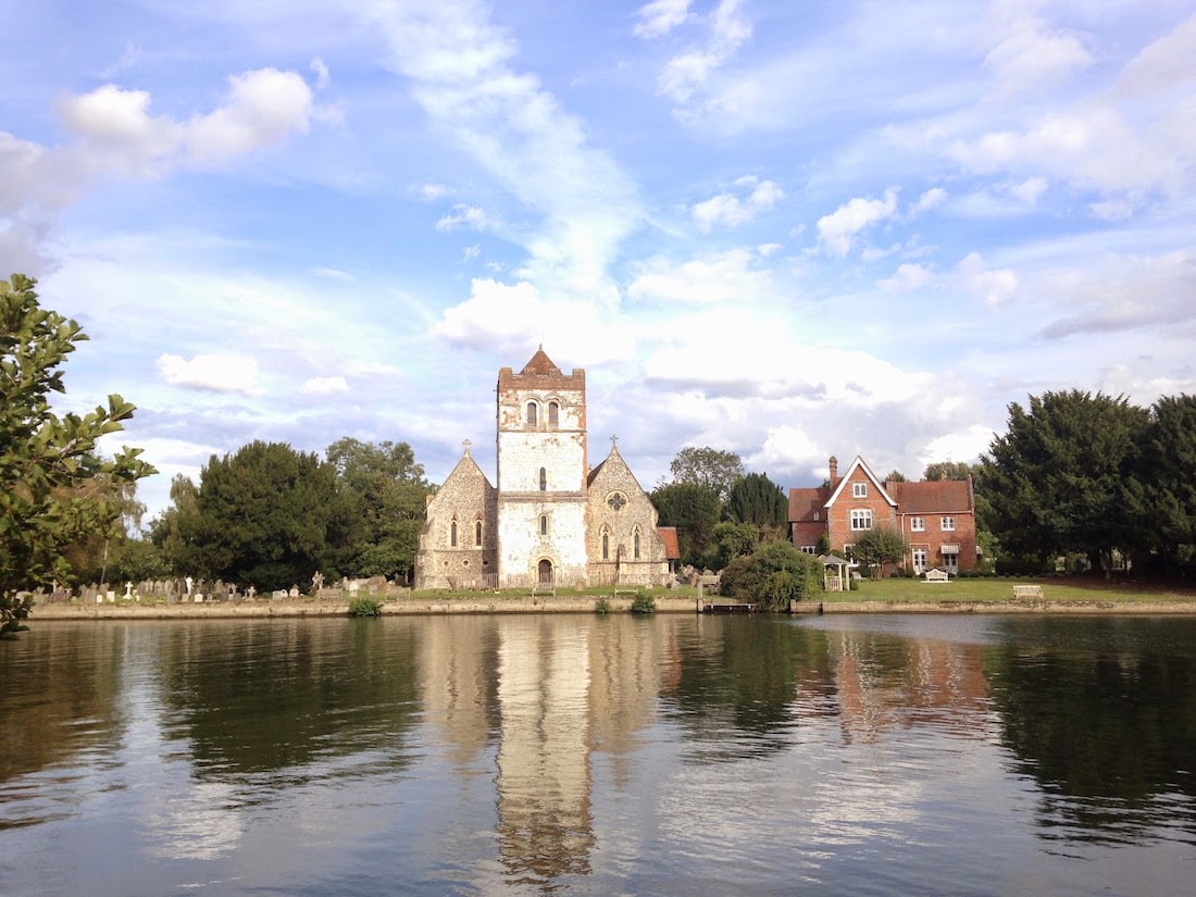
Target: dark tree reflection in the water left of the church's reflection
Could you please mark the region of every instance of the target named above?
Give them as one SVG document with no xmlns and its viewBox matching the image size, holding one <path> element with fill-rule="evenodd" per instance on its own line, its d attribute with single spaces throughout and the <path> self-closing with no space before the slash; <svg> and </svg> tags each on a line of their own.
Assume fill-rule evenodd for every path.
<svg viewBox="0 0 1196 897">
<path fill-rule="evenodd" d="M 304 767 L 346 757 L 374 771 L 404 765 L 417 713 L 413 640 L 370 620 L 178 627 L 161 652 L 176 714 L 166 734 L 188 743 L 201 776 L 303 779 Z"/>
</svg>

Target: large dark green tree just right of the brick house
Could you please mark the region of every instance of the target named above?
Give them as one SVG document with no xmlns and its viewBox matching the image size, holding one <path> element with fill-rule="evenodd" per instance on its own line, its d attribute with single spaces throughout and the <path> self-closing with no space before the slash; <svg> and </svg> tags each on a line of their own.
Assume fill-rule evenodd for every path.
<svg viewBox="0 0 1196 897">
<path fill-rule="evenodd" d="M 1146 410 L 1124 396 L 1079 390 L 1009 405 L 1009 428 L 982 459 L 990 526 L 1014 554 L 1080 553 L 1094 569 L 1137 543 L 1128 494 Z"/>
</svg>

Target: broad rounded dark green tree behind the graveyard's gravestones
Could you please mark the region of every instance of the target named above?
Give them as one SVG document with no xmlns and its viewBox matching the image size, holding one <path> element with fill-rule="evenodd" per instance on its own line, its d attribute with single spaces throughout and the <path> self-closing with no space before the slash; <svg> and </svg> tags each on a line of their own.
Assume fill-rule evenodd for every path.
<svg viewBox="0 0 1196 897">
<path fill-rule="evenodd" d="M 176 482 L 163 544 L 179 574 L 258 591 L 341 575 L 353 505 L 336 468 L 283 443 L 255 441 L 212 456 L 197 488 Z"/>
</svg>

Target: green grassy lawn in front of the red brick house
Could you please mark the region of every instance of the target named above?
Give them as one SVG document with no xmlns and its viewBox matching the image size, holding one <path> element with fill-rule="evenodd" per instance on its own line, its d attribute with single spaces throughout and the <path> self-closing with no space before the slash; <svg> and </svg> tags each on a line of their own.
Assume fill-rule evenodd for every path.
<svg viewBox="0 0 1196 897">
<path fill-rule="evenodd" d="M 1090 576 L 991 576 L 950 582 L 896 576 L 879 582 L 865 580 L 853 592 L 828 592 L 823 602 L 1009 602 L 1014 585 L 1031 584 L 1042 586 L 1046 602 L 1196 603 L 1196 591 L 1191 586 Z"/>
</svg>

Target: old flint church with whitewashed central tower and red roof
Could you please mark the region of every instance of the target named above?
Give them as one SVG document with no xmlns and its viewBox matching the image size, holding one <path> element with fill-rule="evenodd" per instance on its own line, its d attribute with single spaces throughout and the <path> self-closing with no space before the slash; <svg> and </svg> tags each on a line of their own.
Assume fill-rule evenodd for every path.
<svg viewBox="0 0 1196 897">
<path fill-rule="evenodd" d="M 676 531 L 611 440 L 591 468 L 586 373 L 563 373 L 539 348 L 523 370 L 499 371 L 498 477 L 469 443 L 428 499 L 415 557 L 416 588 L 664 585 Z"/>
</svg>

